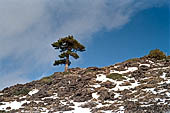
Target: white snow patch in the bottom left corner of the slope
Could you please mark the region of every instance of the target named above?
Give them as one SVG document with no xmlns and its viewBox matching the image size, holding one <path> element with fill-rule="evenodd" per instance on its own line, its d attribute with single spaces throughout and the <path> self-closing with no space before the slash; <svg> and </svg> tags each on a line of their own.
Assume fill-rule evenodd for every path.
<svg viewBox="0 0 170 113">
<path fill-rule="evenodd" d="M 19 108 L 21 108 L 22 104 L 30 103 L 30 102 L 24 100 L 21 102 L 13 101 L 13 102 L 2 102 L 2 103 L 5 105 L 1 105 L 0 110 L 6 110 L 7 107 L 11 107 L 11 109 L 19 109 Z"/>
</svg>

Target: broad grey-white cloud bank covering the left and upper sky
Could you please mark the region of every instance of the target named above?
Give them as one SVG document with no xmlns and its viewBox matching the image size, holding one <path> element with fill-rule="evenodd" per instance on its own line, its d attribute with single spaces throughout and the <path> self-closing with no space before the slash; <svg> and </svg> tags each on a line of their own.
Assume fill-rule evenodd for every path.
<svg viewBox="0 0 170 113">
<path fill-rule="evenodd" d="M 137 12 L 165 3 L 168 0 L 1 0 L 0 86 L 20 68 L 28 76 L 49 67 L 56 57 L 50 44 L 57 38 L 73 34 L 90 39 L 93 33 L 121 28 Z M 14 68 L 4 78 L 9 67 Z M 16 78 L 13 83 L 23 80 Z"/>
</svg>

